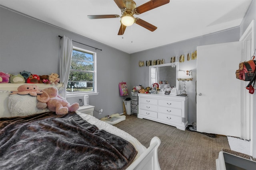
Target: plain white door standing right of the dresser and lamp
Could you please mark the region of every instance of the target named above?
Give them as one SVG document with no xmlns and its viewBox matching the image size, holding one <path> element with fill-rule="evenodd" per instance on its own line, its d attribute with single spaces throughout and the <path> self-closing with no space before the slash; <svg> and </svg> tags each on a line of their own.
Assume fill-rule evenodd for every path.
<svg viewBox="0 0 256 170">
<path fill-rule="evenodd" d="M 197 47 L 197 131 L 241 136 L 241 42 Z"/>
</svg>

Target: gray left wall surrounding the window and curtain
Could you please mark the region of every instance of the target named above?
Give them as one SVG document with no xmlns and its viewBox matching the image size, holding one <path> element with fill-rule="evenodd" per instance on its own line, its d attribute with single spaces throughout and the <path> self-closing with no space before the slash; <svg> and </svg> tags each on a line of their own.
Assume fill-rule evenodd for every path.
<svg viewBox="0 0 256 170">
<path fill-rule="evenodd" d="M 75 46 L 97 53 L 97 82 L 99 95 L 89 96 L 89 104 L 95 106 L 97 118 L 113 113 L 122 113 L 122 100 L 119 96 L 119 82 L 130 82 L 130 55 L 80 37 L 58 27 L 33 20 L 26 16 L 0 7 L 0 70 L 19 73 L 23 70 L 43 75 L 52 72 L 59 74 L 58 54 L 60 39 L 66 35 L 74 41 L 96 47 L 96 50 L 74 43 Z M 78 102 L 78 98 L 68 98 L 68 102 Z M 103 109 L 102 115 L 98 111 Z"/>
</svg>

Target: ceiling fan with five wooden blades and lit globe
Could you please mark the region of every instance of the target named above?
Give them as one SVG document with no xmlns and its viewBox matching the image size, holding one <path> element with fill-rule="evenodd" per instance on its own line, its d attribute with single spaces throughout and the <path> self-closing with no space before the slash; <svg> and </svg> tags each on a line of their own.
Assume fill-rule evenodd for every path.
<svg viewBox="0 0 256 170">
<path fill-rule="evenodd" d="M 168 4 L 170 0 L 150 0 L 137 8 L 136 3 L 133 0 L 114 0 L 114 2 L 116 2 L 116 5 L 121 10 L 121 17 L 119 15 L 89 15 L 87 17 L 89 19 L 120 18 L 121 26 L 118 35 L 123 35 L 126 27 L 134 23 L 137 23 L 150 31 L 155 31 L 157 29 L 156 26 L 140 18 L 134 18 L 133 15 L 139 15 L 164 4 Z"/>
</svg>

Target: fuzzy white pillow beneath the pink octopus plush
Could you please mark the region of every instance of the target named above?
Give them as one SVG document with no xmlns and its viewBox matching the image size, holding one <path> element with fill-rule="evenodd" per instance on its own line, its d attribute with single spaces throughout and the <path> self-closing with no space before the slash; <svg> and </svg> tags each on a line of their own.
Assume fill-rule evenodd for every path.
<svg viewBox="0 0 256 170">
<path fill-rule="evenodd" d="M 47 107 L 45 109 L 38 109 L 36 107 L 37 103 L 36 96 L 12 94 L 9 97 L 8 108 L 12 117 L 50 111 Z"/>
</svg>

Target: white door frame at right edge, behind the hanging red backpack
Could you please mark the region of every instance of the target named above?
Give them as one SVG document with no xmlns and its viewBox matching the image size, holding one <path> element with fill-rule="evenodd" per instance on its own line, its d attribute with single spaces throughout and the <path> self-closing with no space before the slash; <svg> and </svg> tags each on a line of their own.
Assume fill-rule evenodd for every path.
<svg viewBox="0 0 256 170">
<path fill-rule="evenodd" d="M 248 25 L 239 41 L 243 42 L 244 55 L 241 57 L 242 61 L 248 61 L 251 59 L 254 53 L 254 20 Z M 253 113 L 253 95 L 249 94 L 248 90 L 245 90 L 248 82 L 241 81 L 241 138 L 242 139 L 251 139 L 251 155 L 253 147 L 253 141 L 256 141 L 256 137 L 253 136 L 253 122 L 256 122 L 256 115 Z"/>
</svg>

